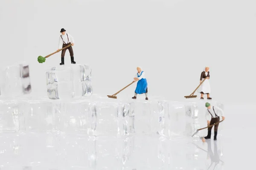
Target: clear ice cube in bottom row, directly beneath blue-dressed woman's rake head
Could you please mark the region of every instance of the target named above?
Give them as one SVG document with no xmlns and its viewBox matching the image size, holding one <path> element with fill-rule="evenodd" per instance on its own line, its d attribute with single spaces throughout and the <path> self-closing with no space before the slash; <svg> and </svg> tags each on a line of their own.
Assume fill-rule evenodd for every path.
<svg viewBox="0 0 256 170">
<path fill-rule="evenodd" d="M 96 102 L 88 112 L 90 136 L 127 136 L 130 133 L 128 103 Z"/>
</svg>

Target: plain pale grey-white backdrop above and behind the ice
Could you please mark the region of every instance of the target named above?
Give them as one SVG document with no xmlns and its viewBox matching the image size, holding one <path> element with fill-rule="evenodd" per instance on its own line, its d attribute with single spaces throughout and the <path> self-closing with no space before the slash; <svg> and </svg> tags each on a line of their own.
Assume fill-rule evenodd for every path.
<svg viewBox="0 0 256 170">
<path fill-rule="evenodd" d="M 37 57 L 57 50 L 61 28 L 74 37 L 75 61 L 92 67 L 96 94 L 116 93 L 141 66 L 149 99 L 180 100 L 209 66 L 213 99 L 255 101 L 255 0 L 1 0 L 0 68 L 29 62 L 32 90 L 46 96 L 45 70 L 61 53 Z"/>
</svg>

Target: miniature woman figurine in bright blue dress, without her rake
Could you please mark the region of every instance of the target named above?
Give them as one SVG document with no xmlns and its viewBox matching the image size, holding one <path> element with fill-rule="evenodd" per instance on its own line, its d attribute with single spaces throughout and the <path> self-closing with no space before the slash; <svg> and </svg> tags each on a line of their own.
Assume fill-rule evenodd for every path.
<svg viewBox="0 0 256 170">
<path fill-rule="evenodd" d="M 135 89 L 135 94 L 132 97 L 132 99 L 137 99 L 137 94 L 145 94 L 146 95 L 146 100 L 148 100 L 148 82 L 147 79 L 145 78 L 145 72 L 142 71 L 141 67 L 137 67 L 138 73 L 134 77 L 133 82 L 137 82 L 137 87 Z"/>
</svg>

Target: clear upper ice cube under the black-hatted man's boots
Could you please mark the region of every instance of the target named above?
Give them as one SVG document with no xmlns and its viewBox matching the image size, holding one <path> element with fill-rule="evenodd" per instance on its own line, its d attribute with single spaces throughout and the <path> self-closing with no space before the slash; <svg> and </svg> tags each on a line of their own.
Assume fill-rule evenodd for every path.
<svg viewBox="0 0 256 170">
<path fill-rule="evenodd" d="M 71 99 L 90 96 L 91 68 L 88 65 L 58 66 L 46 72 L 49 99 Z"/>
</svg>

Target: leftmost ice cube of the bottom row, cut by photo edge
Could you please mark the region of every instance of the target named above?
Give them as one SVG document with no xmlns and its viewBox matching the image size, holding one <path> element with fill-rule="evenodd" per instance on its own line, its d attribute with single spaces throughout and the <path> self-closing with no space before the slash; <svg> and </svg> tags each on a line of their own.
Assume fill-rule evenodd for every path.
<svg viewBox="0 0 256 170">
<path fill-rule="evenodd" d="M 19 130 L 19 108 L 15 101 L 0 101 L 0 132 Z"/>
</svg>

